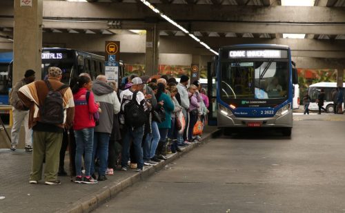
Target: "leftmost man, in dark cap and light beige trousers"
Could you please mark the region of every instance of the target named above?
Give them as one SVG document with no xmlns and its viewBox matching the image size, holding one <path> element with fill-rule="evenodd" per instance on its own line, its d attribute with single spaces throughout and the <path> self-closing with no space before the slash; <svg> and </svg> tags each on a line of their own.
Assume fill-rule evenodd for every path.
<svg viewBox="0 0 345 213">
<path fill-rule="evenodd" d="M 10 104 L 12 105 L 13 126 L 11 131 L 11 150 L 17 149 L 19 143 L 19 133 L 21 124 L 24 121 L 25 128 L 25 151 L 32 152 L 32 130 L 29 128 L 29 111 L 19 99 L 18 91 L 24 85 L 28 85 L 34 81 L 34 71 L 32 69 L 26 70 L 24 78 L 19 80 L 13 87 L 10 93 Z"/>
</svg>

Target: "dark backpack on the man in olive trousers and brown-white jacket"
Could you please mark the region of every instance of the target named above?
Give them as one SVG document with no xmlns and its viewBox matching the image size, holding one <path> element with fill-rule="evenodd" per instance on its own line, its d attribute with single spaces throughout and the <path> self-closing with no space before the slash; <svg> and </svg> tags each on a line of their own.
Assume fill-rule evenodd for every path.
<svg viewBox="0 0 345 213">
<path fill-rule="evenodd" d="M 62 85 L 59 89 L 52 89 L 49 80 L 44 80 L 49 89 L 43 105 L 39 107 L 40 122 L 44 124 L 63 124 L 63 97 L 60 90 L 67 88 L 67 85 Z"/>
</svg>

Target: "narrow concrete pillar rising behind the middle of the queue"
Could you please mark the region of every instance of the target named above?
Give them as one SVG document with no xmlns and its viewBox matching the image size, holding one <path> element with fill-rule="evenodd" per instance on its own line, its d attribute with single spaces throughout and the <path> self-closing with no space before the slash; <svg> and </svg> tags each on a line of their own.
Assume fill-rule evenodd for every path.
<svg viewBox="0 0 345 213">
<path fill-rule="evenodd" d="M 152 76 L 158 72 L 158 47 L 159 47 L 159 30 L 152 27 L 146 30 L 146 56 L 145 72 L 146 75 Z"/>
</svg>

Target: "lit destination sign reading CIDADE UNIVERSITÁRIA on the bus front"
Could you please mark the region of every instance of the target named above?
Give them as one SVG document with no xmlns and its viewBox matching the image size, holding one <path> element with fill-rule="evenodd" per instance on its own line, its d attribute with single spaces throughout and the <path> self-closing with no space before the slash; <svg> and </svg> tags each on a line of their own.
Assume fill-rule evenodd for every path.
<svg viewBox="0 0 345 213">
<path fill-rule="evenodd" d="M 287 58 L 286 50 L 277 49 L 248 49 L 230 50 L 229 58 Z"/>
</svg>

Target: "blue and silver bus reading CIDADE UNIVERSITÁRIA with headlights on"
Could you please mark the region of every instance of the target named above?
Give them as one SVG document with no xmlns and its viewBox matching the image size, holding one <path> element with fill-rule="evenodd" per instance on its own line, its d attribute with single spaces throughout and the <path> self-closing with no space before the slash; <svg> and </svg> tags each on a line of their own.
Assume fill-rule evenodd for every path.
<svg viewBox="0 0 345 213">
<path fill-rule="evenodd" d="M 221 47 L 215 75 L 213 107 L 217 107 L 217 126 L 226 135 L 239 128 L 276 128 L 291 135 L 293 84 L 298 79 L 288 46 Z"/>
</svg>

